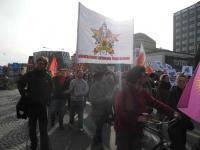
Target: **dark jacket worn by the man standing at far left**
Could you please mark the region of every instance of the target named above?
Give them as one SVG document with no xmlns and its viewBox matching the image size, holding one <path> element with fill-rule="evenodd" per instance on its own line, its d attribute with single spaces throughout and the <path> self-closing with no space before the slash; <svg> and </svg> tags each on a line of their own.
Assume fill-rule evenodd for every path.
<svg viewBox="0 0 200 150">
<path fill-rule="evenodd" d="M 33 70 L 26 73 L 18 81 L 17 87 L 22 97 L 30 104 L 46 105 L 52 92 L 51 76 L 46 71 Z"/>
</svg>

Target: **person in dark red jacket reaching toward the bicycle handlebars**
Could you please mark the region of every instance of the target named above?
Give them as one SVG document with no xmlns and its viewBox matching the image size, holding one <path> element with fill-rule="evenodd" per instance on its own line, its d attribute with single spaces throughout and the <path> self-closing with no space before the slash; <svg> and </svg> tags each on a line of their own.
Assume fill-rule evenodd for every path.
<svg viewBox="0 0 200 150">
<path fill-rule="evenodd" d="M 179 114 L 148 94 L 143 85 L 146 82 L 145 68 L 135 66 L 126 77 L 126 84 L 115 99 L 115 122 L 117 150 L 141 150 L 146 104 L 171 117 Z"/>
</svg>

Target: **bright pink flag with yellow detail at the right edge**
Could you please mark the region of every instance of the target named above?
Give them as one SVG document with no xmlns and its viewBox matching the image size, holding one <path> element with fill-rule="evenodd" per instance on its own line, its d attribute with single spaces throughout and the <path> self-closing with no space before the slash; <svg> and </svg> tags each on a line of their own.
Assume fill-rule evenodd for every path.
<svg viewBox="0 0 200 150">
<path fill-rule="evenodd" d="M 200 64 L 186 85 L 177 107 L 188 117 L 200 122 Z"/>
</svg>

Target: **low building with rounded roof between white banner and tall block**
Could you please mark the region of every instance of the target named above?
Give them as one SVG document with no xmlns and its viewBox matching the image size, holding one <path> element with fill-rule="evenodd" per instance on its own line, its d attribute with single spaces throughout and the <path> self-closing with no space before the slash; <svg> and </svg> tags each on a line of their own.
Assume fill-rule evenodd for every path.
<svg viewBox="0 0 200 150">
<path fill-rule="evenodd" d="M 146 63 L 160 61 L 161 63 L 170 64 L 177 71 L 181 71 L 182 66 L 193 65 L 194 55 L 189 53 L 181 53 L 170 51 L 162 48 L 156 48 L 156 41 L 144 33 L 136 33 L 134 35 L 135 52 L 140 49 L 143 44 L 146 53 Z"/>
</svg>

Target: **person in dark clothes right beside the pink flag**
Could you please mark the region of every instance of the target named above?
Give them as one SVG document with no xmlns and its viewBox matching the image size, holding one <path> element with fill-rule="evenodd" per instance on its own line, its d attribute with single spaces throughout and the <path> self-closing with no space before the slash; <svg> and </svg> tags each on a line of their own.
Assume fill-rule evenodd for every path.
<svg viewBox="0 0 200 150">
<path fill-rule="evenodd" d="M 176 80 L 176 86 L 172 87 L 170 90 L 168 104 L 173 109 L 177 110 L 177 104 L 187 84 L 187 77 L 183 74 L 179 74 Z M 181 112 L 180 112 L 181 113 Z M 168 129 L 168 134 L 171 140 L 171 146 L 173 150 L 185 150 L 186 144 L 186 131 L 187 129 L 192 130 L 194 128 L 193 123 L 190 121 L 190 118 L 181 113 L 181 119 L 170 126 Z"/>
</svg>

